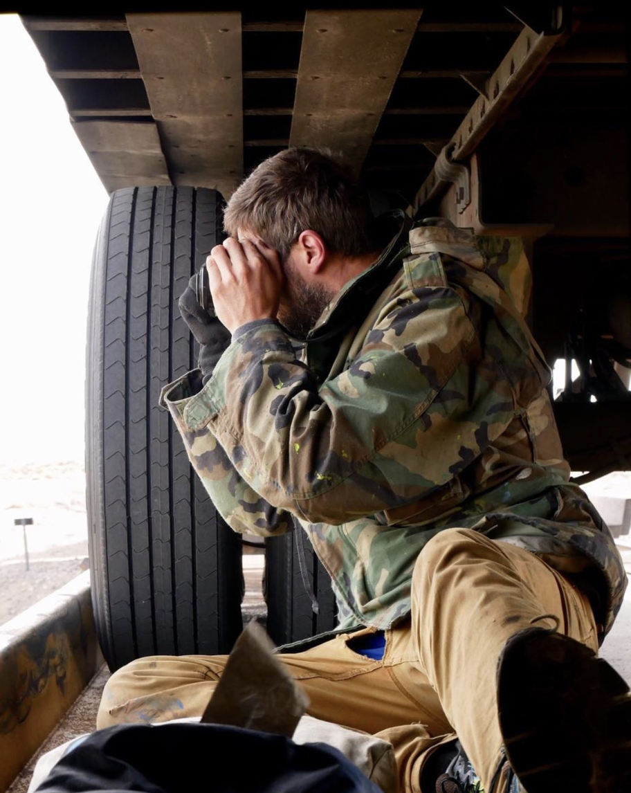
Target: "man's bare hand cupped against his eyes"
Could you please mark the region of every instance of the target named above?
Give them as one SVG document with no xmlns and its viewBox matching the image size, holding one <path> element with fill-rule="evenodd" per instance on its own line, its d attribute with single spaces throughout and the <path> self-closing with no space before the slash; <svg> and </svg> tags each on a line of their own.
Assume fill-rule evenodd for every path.
<svg viewBox="0 0 631 793">
<path fill-rule="evenodd" d="M 206 259 L 216 315 L 233 333 L 253 320 L 275 319 L 282 270 L 277 252 L 262 241 L 230 237 Z"/>
</svg>

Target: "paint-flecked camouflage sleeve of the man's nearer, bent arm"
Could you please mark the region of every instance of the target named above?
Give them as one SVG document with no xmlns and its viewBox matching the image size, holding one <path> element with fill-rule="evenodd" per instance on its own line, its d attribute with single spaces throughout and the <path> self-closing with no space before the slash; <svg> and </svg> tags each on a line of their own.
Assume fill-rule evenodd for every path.
<svg viewBox="0 0 631 793">
<path fill-rule="evenodd" d="M 254 492 L 340 524 L 446 485 L 514 416 L 465 292 L 401 288 L 359 354 L 319 385 L 270 321 L 231 343 L 212 379 L 171 405 L 197 469 L 217 442 Z"/>
</svg>

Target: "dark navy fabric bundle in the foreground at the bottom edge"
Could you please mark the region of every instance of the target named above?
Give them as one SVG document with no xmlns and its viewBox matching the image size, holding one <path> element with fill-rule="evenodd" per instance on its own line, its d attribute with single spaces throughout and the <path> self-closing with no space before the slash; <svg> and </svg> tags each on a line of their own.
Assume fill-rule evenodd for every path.
<svg viewBox="0 0 631 793">
<path fill-rule="evenodd" d="M 98 730 L 59 760 L 44 791 L 381 793 L 331 746 L 194 722 Z"/>
</svg>

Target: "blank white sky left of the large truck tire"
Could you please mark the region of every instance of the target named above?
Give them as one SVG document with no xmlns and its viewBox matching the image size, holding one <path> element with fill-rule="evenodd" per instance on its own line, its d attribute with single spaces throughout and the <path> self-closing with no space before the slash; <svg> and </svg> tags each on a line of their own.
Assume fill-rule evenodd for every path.
<svg viewBox="0 0 631 793">
<path fill-rule="evenodd" d="M 0 465 L 82 461 L 90 263 L 108 196 L 13 14 L 0 14 L 0 75 Z"/>
</svg>

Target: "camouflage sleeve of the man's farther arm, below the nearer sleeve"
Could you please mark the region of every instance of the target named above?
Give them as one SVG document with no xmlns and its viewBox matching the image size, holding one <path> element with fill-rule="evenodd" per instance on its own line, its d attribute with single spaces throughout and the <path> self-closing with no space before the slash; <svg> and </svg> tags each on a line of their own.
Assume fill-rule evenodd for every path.
<svg viewBox="0 0 631 793">
<path fill-rule="evenodd" d="M 239 534 L 270 537 L 293 530 L 293 519 L 268 504 L 239 476 L 228 454 L 207 431 L 189 431 L 178 405 L 186 404 L 201 389 L 201 371 L 193 370 L 166 385 L 160 404 L 175 419 L 193 468 L 222 518 Z M 203 448 L 200 448 L 202 446 Z"/>
</svg>

